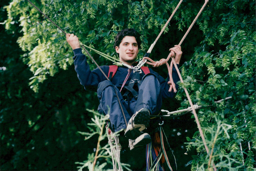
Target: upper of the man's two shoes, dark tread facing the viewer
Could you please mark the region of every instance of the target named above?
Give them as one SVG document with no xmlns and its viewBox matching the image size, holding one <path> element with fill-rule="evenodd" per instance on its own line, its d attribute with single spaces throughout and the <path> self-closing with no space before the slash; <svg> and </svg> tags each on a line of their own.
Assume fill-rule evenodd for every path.
<svg viewBox="0 0 256 171">
<path fill-rule="evenodd" d="M 146 108 L 142 108 L 132 115 L 129 120 L 124 136 L 128 139 L 136 139 L 141 135 L 141 131 L 149 125 L 150 113 Z"/>
</svg>

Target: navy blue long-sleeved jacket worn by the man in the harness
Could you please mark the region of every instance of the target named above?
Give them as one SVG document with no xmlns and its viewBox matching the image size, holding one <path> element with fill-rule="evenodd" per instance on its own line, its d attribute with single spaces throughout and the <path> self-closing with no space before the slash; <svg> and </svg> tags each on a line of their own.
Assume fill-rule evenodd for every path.
<svg viewBox="0 0 256 171">
<path fill-rule="evenodd" d="M 80 81 L 80 83 L 84 86 L 86 90 L 92 90 L 97 92 L 97 88 L 100 82 L 107 80 L 107 78 L 101 73 L 99 68 L 96 68 L 91 71 L 89 64 L 86 61 L 85 55 L 82 53 L 82 49 L 74 49 L 74 64 L 75 64 L 75 70 L 77 73 L 77 77 Z M 179 67 L 179 65 L 177 65 Z M 103 70 L 103 72 L 108 75 L 109 66 L 100 66 L 100 68 Z M 167 77 L 167 81 L 159 75 L 157 72 L 153 71 L 151 68 L 149 68 L 150 73 L 156 75 L 158 81 L 161 84 L 161 95 L 162 98 L 168 98 L 173 97 L 175 93 L 169 92 L 170 85 L 168 84 L 169 81 L 169 75 Z M 112 83 L 118 88 L 121 89 L 121 86 L 124 82 L 124 79 L 128 73 L 128 68 L 126 67 L 118 67 L 115 76 L 112 78 Z M 127 86 L 132 78 L 133 72 L 129 76 L 129 79 L 127 80 L 125 86 Z M 143 74 L 142 74 L 143 76 Z M 175 82 L 175 87 L 178 89 L 178 85 L 176 82 L 178 82 L 179 76 L 177 74 L 176 69 L 173 67 L 172 70 L 172 79 Z M 122 90 L 123 91 L 123 90 Z"/>
</svg>

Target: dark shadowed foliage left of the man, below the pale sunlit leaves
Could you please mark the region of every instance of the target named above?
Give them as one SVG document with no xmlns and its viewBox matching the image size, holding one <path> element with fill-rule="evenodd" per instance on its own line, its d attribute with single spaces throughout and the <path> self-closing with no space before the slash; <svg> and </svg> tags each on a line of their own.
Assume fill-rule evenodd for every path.
<svg viewBox="0 0 256 171">
<path fill-rule="evenodd" d="M 0 18 L 7 19 L 3 8 Z M 76 73 L 70 66 L 44 80 L 43 86 L 39 84 L 38 93 L 30 89 L 29 78 L 34 75 L 23 62 L 27 54 L 16 43 L 22 36 L 22 27 L 14 16 L 13 20 L 17 22 L 13 22 L 12 30 L 0 25 L 0 64 L 6 67 L 5 71 L 0 70 L 0 168 L 74 170 L 75 162 L 92 151 L 91 144 L 84 142 L 77 131 L 87 131 L 91 115 L 84 109 L 96 108 L 98 99 L 78 91 L 83 87 L 73 77 Z M 96 103 L 89 104 L 90 101 Z M 63 155 L 66 153 L 68 158 Z"/>
</svg>

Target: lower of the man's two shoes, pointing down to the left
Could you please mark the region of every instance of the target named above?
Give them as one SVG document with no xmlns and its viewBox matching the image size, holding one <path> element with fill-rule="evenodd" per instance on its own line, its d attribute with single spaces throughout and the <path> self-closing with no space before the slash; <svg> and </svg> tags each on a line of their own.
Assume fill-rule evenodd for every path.
<svg viewBox="0 0 256 171">
<path fill-rule="evenodd" d="M 150 135 L 148 133 L 143 133 L 136 139 L 129 139 L 129 147 L 130 147 L 130 150 L 133 150 L 136 147 L 145 146 L 150 142 L 151 142 Z"/>
</svg>

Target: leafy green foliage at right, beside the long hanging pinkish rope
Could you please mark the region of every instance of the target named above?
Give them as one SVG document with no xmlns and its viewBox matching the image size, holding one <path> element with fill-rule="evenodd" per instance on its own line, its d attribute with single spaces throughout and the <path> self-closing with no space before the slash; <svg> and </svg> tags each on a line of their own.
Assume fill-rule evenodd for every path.
<svg viewBox="0 0 256 171">
<path fill-rule="evenodd" d="M 183 77 L 190 77 L 187 76 L 181 85 L 193 90 L 191 97 L 194 103 L 212 106 L 200 110 L 198 117 L 212 151 L 212 162 L 222 170 L 225 167 L 255 167 L 251 155 L 255 146 L 255 35 L 256 32 L 236 30 L 226 40 L 229 43 L 225 51 L 209 53 L 198 48 L 195 57 L 182 67 Z M 214 103 L 229 96 L 232 96 L 230 100 Z M 179 94 L 178 98 L 185 97 Z M 188 102 L 181 104 L 186 106 Z M 220 123 L 228 124 L 229 129 L 220 131 L 223 129 L 220 129 Z M 198 165 L 200 168 L 212 168 L 213 163 L 207 163 L 209 157 L 204 153 L 201 140 L 195 139 L 197 136 L 195 134 L 190 142 L 190 145 L 197 146 L 198 152 L 192 161 L 192 169 Z"/>
</svg>

